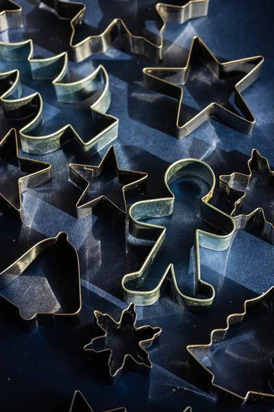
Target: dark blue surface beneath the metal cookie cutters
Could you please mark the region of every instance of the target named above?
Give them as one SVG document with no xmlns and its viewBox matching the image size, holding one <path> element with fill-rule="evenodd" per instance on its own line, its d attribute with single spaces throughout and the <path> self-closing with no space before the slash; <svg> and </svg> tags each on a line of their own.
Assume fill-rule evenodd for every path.
<svg viewBox="0 0 274 412">
<path fill-rule="evenodd" d="M 137 0 L 108 1 L 117 3 L 116 13 L 119 8 L 123 9 L 124 14 L 138 10 Z M 96 32 L 96 27 L 101 29 L 101 24 L 108 23 L 111 11 L 108 1 L 86 1 L 85 21 L 90 26 L 86 30 Z M 69 41 L 69 23 L 38 10 L 27 1 L 18 3 L 23 7 L 25 28 L 3 32 L 1 41 L 33 38 L 36 57 L 64 51 Z M 131 6 L 129 10 L 125 7 L 127 3 Z M 142 0 L 143 3 L 145 0 Z M 210 0 L 207 17 L 183 26 L 167 25 L 164 32 L 164 64 L 169 66 L 184 65 L 195 35 L 201 36 L 212 52 L 224 60 L 264 56 L 261 77 L 243 93 L 256 116 L 256 126 L 250 136 L 210 120 L 179 141 L 169 135 L 177 102 L 142 88 L 142 67 L 151 66 L 151 62 L 116 47 L 82 63 L 71 62 L 71 70 L 81 76 L 88 75 L 99 64 L 105 66 L 112 93 L 108 113 L 119 117 L 120 121 L 119 137 L 114 142 L 119 165 L 149 173 L 146 190 L 128 194 L 127 205 L 142 197 L 162 194 L 164 171 L 170 163 L 184 157 L 203 159 L 217 177 L 234 171 L 247 172 L 247 160 L 252 148 L 257 148 L 274 165 L 273 17 L 274 3 L 271 0 Z M 0 64 L 1 70 L 7 69 L 5 62 Z M 210 81 L 206 76 L 206 72 L 201 72 L 203 93 L 205 84 Z M 51 129 L 57 128 L 61 119 L 60 104 L 55 100 L 50 82 L 31 81 L 25 73 L 23 84 L 25 95 L 40 91 L 44 100 L 45 123 Z M 203 94 L 199 101 L 197 91 L 192 95 L 190 89 L 186 88 L 184 104 L 203 107 L 207 96 Z M 210 93 L 215 96 L 216 89 L 209 90 L 209 98 Z M 62 116 L 64 124 L 71 122 L 71 110 L 63 111 Z M 83 135 L 85 130 L 90 129 L 90 124 L 82 123 L 79 126 Z M 1 113 L 1 136 L 9 128 L 10 124 Z M 98 164 L 106 150 L 92 157 L 90 164 Z M 75 154 L 72 146 L 67 145 L 50 155 L 36 158 L 52 164 L 53 180 L 23 195 L 23 225 L 0 216 L 0 269 L 14 262 L 39 240 L 55 236 L 59 231 L 67 231 L 69 240 L 79 253 L 83 310 L 77 328 L 42 327 L 32 333 L 21 330 L 8 314 L 0 314 L 1 411 L 69 411 L 76 389 L 83 391 L 95 411 L 123 406 L 129 412 L 179 412 L 188 405 L 195 412 L 232 410 L 229 405 L 216 402 L 190 385 L 186 345 L 208 343 L 210 331 L 224 326 L 228 314 L 242 310 L 245 299 L 273 286 L 273 246 L 250 233 L 238 231 L 231 247 L 225 252 L 201 249 L 203 278 L 216 289 L 212 308 L 204 314 L 187 312 L 179 307 L 168 289 L 153 306 L 137 308 L 138 325 L 160 326 L 163 330 L 159 344 L 150 350 L 153 369 L 149 377 L 127 371 L 119 383 L 111 387 L 88 361 L 83 350 L 92 336 L 90 325 L 93 310 L 107 312 L 119 319 L 121 310 L 126 307 L 121 278 L 140 267 L 150 246 L 127 236 L 127 224 L 124 227 L 112 216 L 90 216 L 84 220 L 75 218 L 75 203 L 81 192 L 68 181 L 68 163 L 81 163 L 83 159 Z M 173 183 L 175 194 L 182 196 L 181 189 L 182 180 Z M 182 225 L 182 232 L 189 233 L 188 236 L 194 236 L 193 228 L 196 227 L 197 217 L 191 217 L 192 211 L 192 203 L 186 202 L 185 213 L 173 216 L 179 220 L 180 227 Z M 186 219 L 186 216 L 189 218 Z M 179 237 L 180 231 L 176 231 L 175 244 L 179 244 Z M 188 243 L 191 245 L 191 241 Z M 184 268 L 184 276 L 187 276 L 188 253 L 177 255 L 177 258 Z M 165 262 L 162 264 L 164 268 Z M 233 390 L 238 388 L 238 393 L 256 390 L 259 385 L 260 389 L 271 393 L 268 381 L 273 373 L 270 363 L 273 345 L 269 345 L 267 339 L 270 334 L 273 336 L 274 325 L 267 310 L 260 312 L 260 319 L 262 321 L 256 321 L 256 316 L 249 317 L 242 328 L 236 328 L 229 334 L 228 343 L 212 350 L 210 356 L 216 382 L 229 385 Z M 269 333 L 265 333 L 266 325 Z M 261 328 L 260 339 L 256 334 L 258 328 Z M 254 359 L 260 367 L 253 367 Z M 245 404 L 242 407 L 242 411 L 271 410 L 273 407 L 270 404 Z"/>
</svg>

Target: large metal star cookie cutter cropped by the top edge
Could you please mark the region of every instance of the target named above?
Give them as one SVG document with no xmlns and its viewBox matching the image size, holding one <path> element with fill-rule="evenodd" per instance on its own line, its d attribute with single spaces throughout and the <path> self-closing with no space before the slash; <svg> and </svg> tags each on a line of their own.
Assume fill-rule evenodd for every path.
<svg viewBox="0 0 274 412">
<path fill-rule="evenodd" d="M 60 19 L 71 21 L 71 58 L 77 62 L 88 58 L 92 54 L 105 52 L 110 47 L 116 37 L 123 35 L 127 41 L 127 47 L 134 54 L 142 54 L 151 60 L 162 60 L 163 52 L 163 32 L 166 23 L 183 24 L 190 19 L 206 16 L 210 0 L 190 0 L 184 5 L 171 5 L 165 3 L 155 4 L 157 11 L 158 30 L 160 30 L 160 44 L 149 41 L 145 36 L 134 36 L 122 19 L 114 19 L 103 33 L 95 36 L 88 36 L 79 43 L 74 42 L 75 28 L 81 25 L 84 18 L 86 5 L 73 1 L 52 1 L 42 0 L 49 10 L 53 10 Z M 156 2 L 155 2 L 156 3 Z M 182 1 L 183 3 L 183 1 Z"/>
</svg>

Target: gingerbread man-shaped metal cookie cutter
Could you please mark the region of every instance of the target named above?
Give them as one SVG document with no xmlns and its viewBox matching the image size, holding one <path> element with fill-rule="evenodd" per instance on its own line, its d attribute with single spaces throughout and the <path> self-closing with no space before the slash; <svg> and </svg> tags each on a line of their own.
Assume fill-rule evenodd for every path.
<svg viewBox="0 0 274 412">
<path fill-rule="evenodd" d="M 141 222 L 142 219 L 171 216 L 173 214 L 173 205 L 175 196 L 169 189 L 169 184 L 181 176 L 197 176 L 204 179 L 210 184 L 210 191 L 205 194 L 200 201 L 199 218 L 209 223 L 212 227 L 220 229 L 224 236 L 216 235 L 210 232 L 197 230 L 195 235 L 195 272 L 194 272 L 194 292 L 201 297 L 190 297 L 184 295 L 177 285 L 177 277 L 173 267 L 173 262 L 167 266 L 158 285 L 152 290 L 136 290 L 145 282 L 145 279 L 151 271 L 153 263 L 158 259 L 166 236 L 166 228 L 162 226 L 151 225 Z M 122 287 L 125 301 L 134 301 L 136 305 L 147 306 L 154 304 L 160 297 L 166 281 L 171 277 L 173 288 L 177 301 L 181 306 L 188 310 L 195 310 L 210 306 L 215 296 L 214 287 L 201 279 L 201 267 L 199 258 L 199 247 L 206 247 L 214 251 L 223 251 L 229 247 L 235 231 L 235 224 L 232 218 L 223 211 L 210 205 L 215 187 L 215 176 L 213 170 L 207 163 L 197 159 L 182 159 L 172 163 L 164 175 L 164 183 L 170 193 L 169 197 L 158 198 L 147 201 L 134 203 L 129 209 L 129 233 L 135 238 L 154 240 L 155 243 L 147 255 L 145 262 L 140 270 L 128 273 L 122 279 Z M 128 282 L 136 281 L 136 287 L 129 289 Z"/>
</svg>

